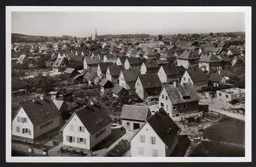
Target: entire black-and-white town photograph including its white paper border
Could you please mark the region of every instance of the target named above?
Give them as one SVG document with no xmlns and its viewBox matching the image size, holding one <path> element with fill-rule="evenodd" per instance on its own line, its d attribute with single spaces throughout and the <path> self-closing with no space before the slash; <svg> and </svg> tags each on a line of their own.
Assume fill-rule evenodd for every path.
<svg viewBox="0 0 256 167">
<path fill-rule="evenodd" d="M 6 7 L 6 106 L 9 162 L 251 161 L 251 8 Z"/>
</svg>

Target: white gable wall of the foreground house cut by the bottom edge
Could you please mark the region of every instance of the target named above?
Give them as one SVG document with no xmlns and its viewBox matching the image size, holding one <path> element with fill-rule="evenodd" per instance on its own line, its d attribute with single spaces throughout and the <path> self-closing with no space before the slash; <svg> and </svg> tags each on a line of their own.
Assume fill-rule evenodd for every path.
<svg viewBox="0 0 256 167">
<path fill-rule="evenodd" d="M 145 142 L 140 142 L 140 135 L 145 135 Z M 150 137 L 156 137 L 156 144 L 150 144 Z M 138 148 L 143 148 L 143 155 L 138 153 Z M 131 140 L 131 156 L 132 157 L 153 157 L 152 149 L 158 150 L 159 157 L 165 157 L 165 144 L 156 134 L 150 124 L 145 125 Z"/>
</svg>

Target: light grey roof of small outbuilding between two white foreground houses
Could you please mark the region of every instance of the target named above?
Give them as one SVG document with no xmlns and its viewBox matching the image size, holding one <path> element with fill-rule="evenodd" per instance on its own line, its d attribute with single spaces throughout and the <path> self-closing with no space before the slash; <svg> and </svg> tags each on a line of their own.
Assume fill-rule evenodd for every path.
<svg viewBox="0 0 256 167">
<path fill-rule="evenodd" d="M 123 105 L 120 118 L 136 121 L 146 121 L 151 116 L 148 106 Z"/>
</svg>

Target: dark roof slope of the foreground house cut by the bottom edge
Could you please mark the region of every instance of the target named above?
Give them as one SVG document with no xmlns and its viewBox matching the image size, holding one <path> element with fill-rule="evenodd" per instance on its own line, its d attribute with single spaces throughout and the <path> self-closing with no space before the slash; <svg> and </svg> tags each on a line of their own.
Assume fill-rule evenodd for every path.
<svg viewBox="0 0 256 167">
<path fill-rule="evenodd" d="M 161 138 L 166 147 L 170 148 L 174 144 L 174 137 L 180 128 L 173 119 L 161 107 L 154 115 L 146 121 L 156 134 Z"/>
</svg>

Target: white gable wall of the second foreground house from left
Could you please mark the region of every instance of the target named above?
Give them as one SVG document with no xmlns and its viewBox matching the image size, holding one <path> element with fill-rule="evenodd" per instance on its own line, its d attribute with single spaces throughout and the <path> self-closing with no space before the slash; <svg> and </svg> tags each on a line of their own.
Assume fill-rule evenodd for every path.
<svg viewBox="0 0 256 167">
<path fill-rule="evenodd" d="M 91 149 L 90 147 L 90 133 L 86 128 L 84 128 L 84 132 L 78 131 L 78 126 L 82 126 L 83 124 L 78 118 L 76 114 L 74 114 L 69 121 L 69 123 L 66 125 L 66 127 L 63 129 L 63 145 L 71 146 L 71 147 L 78 147 L 82 149 Z M 74 131 L 70 131 L 70 125 L 74 125 Z M 75 136 L 75 142 L 69 142 L 67 141 L 67 136 Z M 86 138 L 86 144 L 78 144 L 77 143 L 77 137 Z"/>
</svg>

